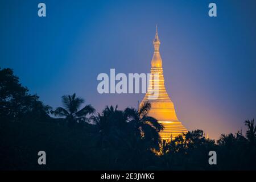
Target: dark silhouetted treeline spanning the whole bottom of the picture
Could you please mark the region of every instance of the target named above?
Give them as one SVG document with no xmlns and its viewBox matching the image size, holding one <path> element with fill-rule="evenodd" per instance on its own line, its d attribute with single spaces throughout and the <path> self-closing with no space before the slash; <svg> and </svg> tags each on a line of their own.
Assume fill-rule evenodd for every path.
<svg viewBox="0 0 256 182">
<path fill-rule="evenodd" d="M 12 69 L 0 69 L 0 169 L 255 170 L 256 126 L 245 121 L 245 135 L 222 134 L 214 141 L 202 130 L 171 142 L 160 139 L 163 126 L 139 110 L 106 106 L 96 113 L 84 100 L 64 95 L 53 109 L 28 93 Z M 38 151 L 47 164 L 38 164 Z M 209 165 L 209 151 L 217 164 Z"/>
</svg>

